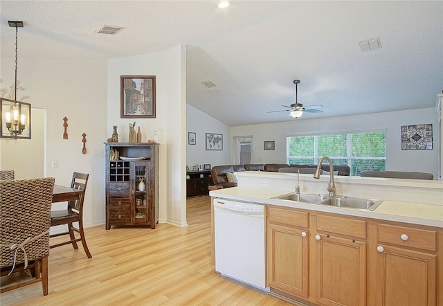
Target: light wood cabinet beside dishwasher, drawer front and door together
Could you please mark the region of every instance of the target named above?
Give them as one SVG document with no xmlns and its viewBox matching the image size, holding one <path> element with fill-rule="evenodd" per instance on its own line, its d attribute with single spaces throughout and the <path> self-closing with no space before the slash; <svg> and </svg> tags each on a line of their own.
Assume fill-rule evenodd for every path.
<svg viewBox="0 0 443 306">
<path fill-rule="evenodd" d="M 308 214 L 270 207 L 267 213 L 269 286 L 293 296 L 308 296 Z"/>
</svg>

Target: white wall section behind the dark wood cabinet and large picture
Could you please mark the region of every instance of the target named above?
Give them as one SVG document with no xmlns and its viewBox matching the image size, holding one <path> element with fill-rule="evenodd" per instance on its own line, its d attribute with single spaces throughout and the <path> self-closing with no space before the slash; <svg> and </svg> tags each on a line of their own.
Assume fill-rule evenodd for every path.
<svg viewBox="0 0 443 306">
<path fill-rule="evenodd" d="M 120 142 L 128 141 L 129 123 L 141 127 L 142 141 L 153 138 L 158 129 L 159 222 L 186 225 L 184 150 L 186 124 L 186 75 L 183 79 L 182 46 L 170 51 L 109 60 L 107 72 L 107 135 L 118 126 Z M 185 62 L 183 62 L 185 60 Z M 186 71 L 186 70 L 185 70 Z M 156 118 L 120 118 L 120 75 L 156 76 Z"/>
</svg>

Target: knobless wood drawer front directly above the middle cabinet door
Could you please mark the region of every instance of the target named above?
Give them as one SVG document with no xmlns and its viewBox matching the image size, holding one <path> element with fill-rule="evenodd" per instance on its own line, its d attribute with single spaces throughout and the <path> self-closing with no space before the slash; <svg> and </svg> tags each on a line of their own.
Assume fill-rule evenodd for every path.
<svg viewBox="0 0 443 306">
<path fill-rule="evenodd" d="M 318 231 L 325 231 L 326 233 L 336 233 L 366 239 L 366 222 L 363 220 L 317 215 L 316 229 Z"/>
</svg>

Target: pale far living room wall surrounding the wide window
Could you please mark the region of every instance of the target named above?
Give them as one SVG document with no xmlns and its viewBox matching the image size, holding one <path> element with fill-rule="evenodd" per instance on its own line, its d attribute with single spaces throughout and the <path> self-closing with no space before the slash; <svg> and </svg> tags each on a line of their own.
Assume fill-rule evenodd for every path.
<svg viewBox="0 0 443 306">
<path fill-rule="evenodd" d="M 433 150 L 401 150 L 401 126 L 432 123 Z M 284 123 L 231 127 L 231 136 L 253 135 L 253 163 L 286 163 L 286 136 L 322 132 L 359 132 L 386 129 L 386 170 L 429 172 L 437 178 L 437 112 L 435 108 L 334 118 L 291 120 Z M 264 141 L 275 141 L 275 151 L 265 151 Z"/>
</svg>

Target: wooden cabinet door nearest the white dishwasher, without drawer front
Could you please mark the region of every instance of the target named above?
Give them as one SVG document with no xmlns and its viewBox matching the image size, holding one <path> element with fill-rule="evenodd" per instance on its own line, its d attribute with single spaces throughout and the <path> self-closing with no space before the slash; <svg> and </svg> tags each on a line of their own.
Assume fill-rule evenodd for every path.
<svg viewBox="0 0 443 306">
<path fill-rule="evenodd" d="M 293 296 L 308 296 L 307 231 L 269 224 L 269 287 Z"/>
</svg>

